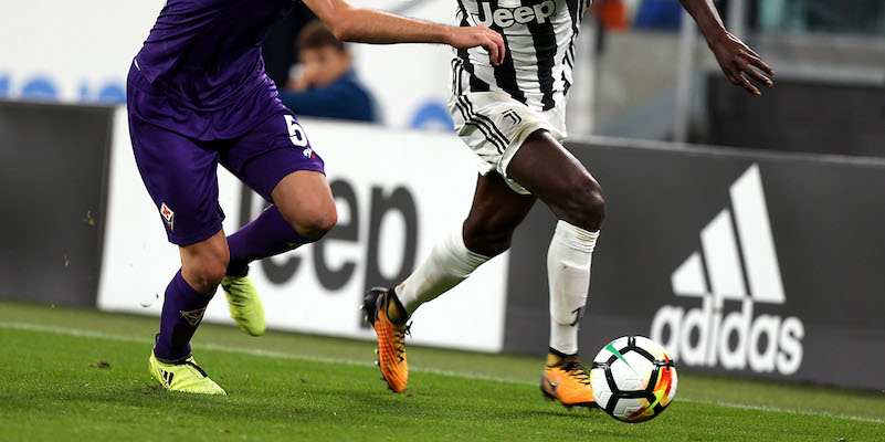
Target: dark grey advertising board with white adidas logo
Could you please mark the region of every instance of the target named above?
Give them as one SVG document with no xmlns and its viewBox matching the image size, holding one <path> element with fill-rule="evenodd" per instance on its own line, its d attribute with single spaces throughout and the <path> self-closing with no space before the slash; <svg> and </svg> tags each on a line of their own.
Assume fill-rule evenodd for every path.
<svg viewBox="0 0 885 442">
<path fill-rule="evenodd" d="M 885 387 L 885 161 L 571 144 L 605 193 L 581 352 L 650 336 L 693 370 Z M 510 254 L 505 351 L 542 352 L 539 204 Z"/>
</svg>

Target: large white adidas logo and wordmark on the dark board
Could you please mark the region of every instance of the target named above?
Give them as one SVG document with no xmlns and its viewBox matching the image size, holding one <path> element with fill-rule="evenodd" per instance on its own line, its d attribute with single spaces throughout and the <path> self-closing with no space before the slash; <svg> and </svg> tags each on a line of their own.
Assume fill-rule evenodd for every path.
<svg viewBox="0 0 885 442">
<path fill-rule="evenodd" d="M 700 306 L 661 307 L 651 337 L 687 366 L 726 370 L 749 366 L 755 372 L 792 375 L 802 365 L 802 320 L 754 316 L 755 304 L 787 299 L 757 165 L 731 185 L 730 196 L 731 209 L 723 209 L 700 231 L 702 250 L 671 276 L 673 293 L 699 298 Z"/>
</svg>

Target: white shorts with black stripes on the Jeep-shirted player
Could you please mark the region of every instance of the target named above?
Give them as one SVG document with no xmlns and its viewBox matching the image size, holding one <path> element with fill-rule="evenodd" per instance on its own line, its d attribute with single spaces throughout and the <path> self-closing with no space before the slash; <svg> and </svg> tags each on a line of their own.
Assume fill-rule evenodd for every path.
<svg viewBox="0 0 885 442">
<path fill-rule="evenodd" d="M 526 138 L 545 129 L 558 141 L 566 138 L 565 106 L 535 110 L 497 92 L 468 92 L 453 95 L 449 112 L 461 140 L 476 154 L 480 175 L 497 171 L 517 193 L 530 194 L 507 175 L 507 167 Z"/>
</svg>

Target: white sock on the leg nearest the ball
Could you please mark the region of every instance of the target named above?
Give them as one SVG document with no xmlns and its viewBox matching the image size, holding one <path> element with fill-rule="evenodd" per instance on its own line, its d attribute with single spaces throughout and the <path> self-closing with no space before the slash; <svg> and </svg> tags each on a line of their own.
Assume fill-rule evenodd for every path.
<svg viewBox="0 0 885 442">
<path fill-rule="evenodd" d="M 550 348 L 566 355 L 578 352 L 578 326 L 590 290 L 590 262 L 597 238 L 599 231 L 588 232 L 560 220 L 547 251 Z"/>
</svg>

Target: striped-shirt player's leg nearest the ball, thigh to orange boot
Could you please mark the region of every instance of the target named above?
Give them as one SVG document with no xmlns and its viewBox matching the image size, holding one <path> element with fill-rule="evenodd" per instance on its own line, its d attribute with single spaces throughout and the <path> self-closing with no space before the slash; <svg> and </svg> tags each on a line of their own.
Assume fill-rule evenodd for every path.
<svg viewBox="0 0 885 442">
<path fill-rule="evenodd" d="M 545 130 L 528 137 L 507 170 L 559 219 L 547 254 L 550 351 L 541 391 L 569 408 L 593 406 L 589 372 L 578 359 L 578 326 L 590 286 L 592 252 L 605 215 L 601 188 Z"/>
</svg>

